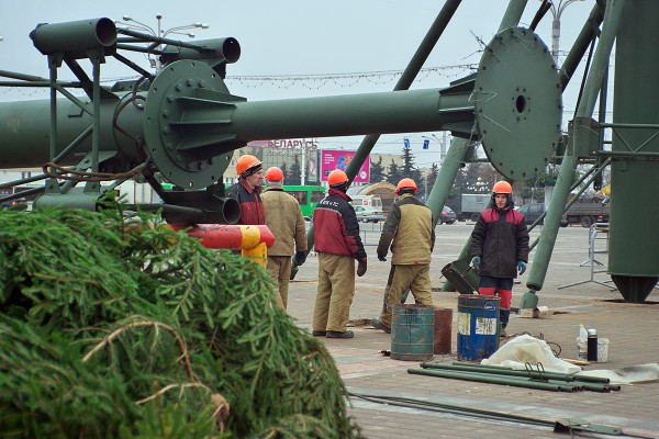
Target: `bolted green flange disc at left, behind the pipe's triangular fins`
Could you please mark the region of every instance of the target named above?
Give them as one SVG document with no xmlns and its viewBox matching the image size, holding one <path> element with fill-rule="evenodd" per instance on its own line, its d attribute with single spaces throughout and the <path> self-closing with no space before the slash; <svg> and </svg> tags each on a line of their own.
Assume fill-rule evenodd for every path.
<svg viewBox="0 0 659 439">
<path fill-rule="evenodd" d="M 185 189 L 221 181 L 231 161 L 232 154 L 212 156 L 200 148 L 183 147 L 186 130 L 176 125 L 191 106 L 202 110 L 215 104 L 199 98 L 212 92 L 231 97 L 220 75 L 206 64 L 180 60 L 158 74 L 146 97 L 144 137 L 148 154 L 167 180 Z"/>
</svg>

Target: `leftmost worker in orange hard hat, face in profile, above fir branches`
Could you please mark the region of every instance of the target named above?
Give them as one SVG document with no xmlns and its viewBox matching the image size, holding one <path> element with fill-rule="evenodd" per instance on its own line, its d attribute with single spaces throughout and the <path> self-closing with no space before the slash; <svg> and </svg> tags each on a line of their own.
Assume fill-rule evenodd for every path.
<svg viewBox="0 0 659 439">
<path fill-rule="evenodd" d="M 264 203 L 260 199 L 261 161 L 249 154 L 245 154 L 236 161 L 236 173 L 238 175 L 238 182 L 228 188 L 226 196 L 236 199 L 241 203 L 238 224 L 266 224 Z"/>
</svg>

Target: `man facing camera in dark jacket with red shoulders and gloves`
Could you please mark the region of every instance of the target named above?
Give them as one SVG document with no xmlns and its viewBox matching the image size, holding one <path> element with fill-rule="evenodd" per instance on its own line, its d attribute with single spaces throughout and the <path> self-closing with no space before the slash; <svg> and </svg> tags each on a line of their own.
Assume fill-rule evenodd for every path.
<svg viewBox="0 0 659 439">
<path fill-rule="evenodd" d="M 471 233 L 471 255 L 481 275 L 478 293 L 499 294 L 502 337 L 511 315 L 513 280 L 526 271 L 528 251 L 528 229 L 524 215 L 513 209 L 513 187 L 498 181 L 492 209 L 481 212 Z"/>
</svg>

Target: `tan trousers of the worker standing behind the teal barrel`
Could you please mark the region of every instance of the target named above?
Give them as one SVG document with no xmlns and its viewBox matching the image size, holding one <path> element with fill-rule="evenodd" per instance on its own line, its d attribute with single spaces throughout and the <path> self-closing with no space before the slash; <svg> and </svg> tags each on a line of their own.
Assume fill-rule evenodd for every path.
<svg viewBox="0 0 659 439">
<path fill-rule="evenodd" d="M 414 266 L 391 266 L 393 279 L 387 295 L 387 306 L 380 313 L 380 322 L 391 327 L 391 311 L 393 305 L 401 303 L 403 293 L 410 289 L 417 305 L 433 305 L 431 293 L 431 266 L 428 263 Z"/>
</svg>

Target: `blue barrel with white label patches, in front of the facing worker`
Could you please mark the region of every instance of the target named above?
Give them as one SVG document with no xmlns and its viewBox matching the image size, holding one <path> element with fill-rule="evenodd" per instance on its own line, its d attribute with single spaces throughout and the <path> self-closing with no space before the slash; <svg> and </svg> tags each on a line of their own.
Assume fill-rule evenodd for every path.
<svg viewBox="0 0 659 439">
<path fill-rule="evenodd" d="M 458 360 L 480 361 L 499 349 L 499 297 L 458 296 Z"/>
</svg>

